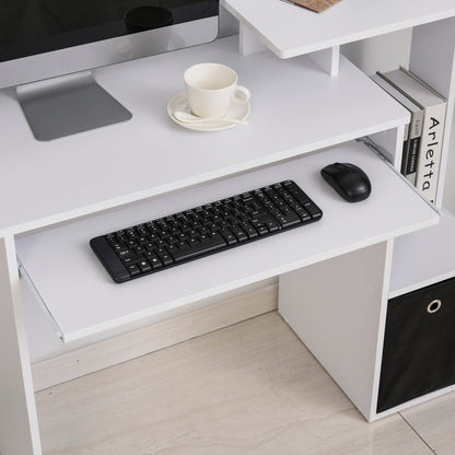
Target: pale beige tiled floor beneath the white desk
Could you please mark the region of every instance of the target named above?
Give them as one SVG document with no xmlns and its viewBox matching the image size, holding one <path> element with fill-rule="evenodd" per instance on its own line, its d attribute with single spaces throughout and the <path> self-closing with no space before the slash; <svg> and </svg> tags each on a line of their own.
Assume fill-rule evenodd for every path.
<svg viewBox="0 0 455 455">
<path fill-rule="evenodd" d="M 455 454 L 455 394 L 368 423 L 276 312 L 36 400 L 45 455 Z"/>
</svg>

